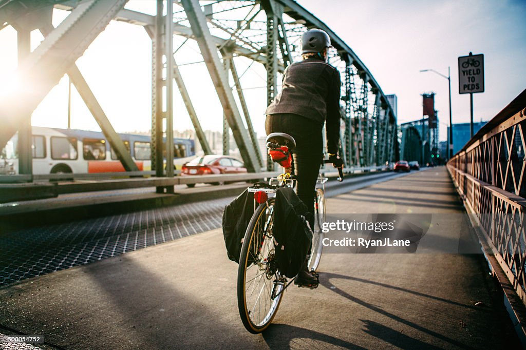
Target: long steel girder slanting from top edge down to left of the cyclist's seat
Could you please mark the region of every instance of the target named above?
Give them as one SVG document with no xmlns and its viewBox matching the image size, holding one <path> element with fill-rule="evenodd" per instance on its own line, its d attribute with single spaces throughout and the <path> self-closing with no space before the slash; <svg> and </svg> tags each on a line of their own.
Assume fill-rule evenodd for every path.
<svg viewBox="0 0 526 350">
<path fill-rule="evenodd" d="M 260 169 L 257 164 L 256 156 L 257 151 L 252 146 L 248 133 L 241 120 L 234 95 L 228 85 L 228 75 L 226 74 L 226 70 L 221 66 L 217 54 L 217 48 L 211 38 L 206 16 L 203 11 L 201 11 L 201 7 L 197 0 L 182 0 L 181 4 L 185 9 L 188 22 L 190 23 L 190 27 L 194 32 L 195 39 L 201 50 L 201 55 L 203 55 L 210 77 L 214 82 L 223 111 L 227 117 L 230 129 L 232 130 L 232 135 L 234 135 L 239 147 L 245 166 L 250 172 L 259 171 Z"/>
</svg>

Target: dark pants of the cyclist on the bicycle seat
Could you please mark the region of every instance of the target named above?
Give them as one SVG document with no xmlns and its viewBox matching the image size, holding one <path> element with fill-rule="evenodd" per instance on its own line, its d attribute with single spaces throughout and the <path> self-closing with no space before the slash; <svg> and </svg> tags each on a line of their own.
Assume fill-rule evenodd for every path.
<svg viewBox="0 0 526 350">
<path fill-rule="evenodd" d="M 314 229 L 314 199 L 316 180 L 323 159 L 322 126 L 319 123 L 295 114 L 268 115 L 265 120 L 267 135 L 285 132 L 296 141 L 294 169 L 297 176 L 298 197 L 307 205 L 311 215 L 308 218 Z"/>
</svg>

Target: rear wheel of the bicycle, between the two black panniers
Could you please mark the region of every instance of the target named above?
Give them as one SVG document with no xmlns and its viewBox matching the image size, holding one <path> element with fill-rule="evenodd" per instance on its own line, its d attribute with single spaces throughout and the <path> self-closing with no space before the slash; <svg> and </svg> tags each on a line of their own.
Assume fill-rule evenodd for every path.
<svg viewBox="0 0 526 350">
<path fill-rule="evenodd" d="M 241 321 L 250 333 L 263 332 L 272 322 L 286 282 L 278 272 L 272 235 L 274 198 L 260 204 L 245 233 L 237 275 Z"/>
</svg>

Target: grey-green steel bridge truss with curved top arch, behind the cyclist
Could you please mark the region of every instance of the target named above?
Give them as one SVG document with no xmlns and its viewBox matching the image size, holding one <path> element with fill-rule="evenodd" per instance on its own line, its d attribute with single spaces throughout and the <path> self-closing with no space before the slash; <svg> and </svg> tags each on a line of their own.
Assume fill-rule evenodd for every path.
<svg viewBox="0 0 526 350">
<path fill-rule="evenodd" d="M 163 4 L 157 0 L 157 14 L 125 9 L 126 0 L 0 0 L 0 29 L 12 25 L 18 32 L 19 68 L 23 90 L 0 101 L 3 127 L 0 144 L 19 133 L 20 173 L 31 178 L 31 114 L 59 79 L 68 74 L 92 111 L 100 128 L 128 171 L 136 170 L 124 143 L 116 135 L 95 95 L 90 91 L 75 61 L 112 19 L 143 26 L 152 42 L 151 136 L 152 167 L 156 175 L 173 176 L 163 169 L 163 147 L 167 157 L 173 118 L 173 82 L 183 97 L 196 136 L 205 153 L 211 149 L 177 66 L 173 36 L 194 40 L 221 102 L 224 118 L 224 145 L 228 150 L 231 131 L 249 171 L 265 167 L 258 148 L 249 108 L 236 69 L 237 57 L 264 65 L 267 71 L 267 102 L 280 88 L 284 69 L 300 59 L 300 38 L 308 28 L 325 30 L 332 40 L 329 62 L 342 77 L 342 156 L 348 168 L 385 164 L 398 158 L 396 117 L 375 78 L 367 67 L 329 27 L 292 0 L 181 0 Z M 51 26 L 53 7 L 70 11 L 57 26 Z M 163 7 L 166 7 L 165 9 Z M 171 16 L 163 16 L 163 11 Z M 29 33 L 40 29 L 44 41 L 29 52 Z M 166 35 L 169 33 L 169 35 Z M 181 46 L 182 46 L 181 45 Z M 169 57 L 167 59 L 167 57 Z M 250 67 L 250 66 L 249 66 Z M 31 88 L 29 88 L 31 87 Z M 237 95 L 237 100 L 235 98 Z M 167 101 L 163 110 L 162 101 Z M 166 119 L 166 128 L 163 128 Z M 166 137 L 167 145 L 163 145 Z M 267 167 L 271 168 L 268 163 Z M 161 189 L 160 189 L 161 190 Z"/>
</svg>

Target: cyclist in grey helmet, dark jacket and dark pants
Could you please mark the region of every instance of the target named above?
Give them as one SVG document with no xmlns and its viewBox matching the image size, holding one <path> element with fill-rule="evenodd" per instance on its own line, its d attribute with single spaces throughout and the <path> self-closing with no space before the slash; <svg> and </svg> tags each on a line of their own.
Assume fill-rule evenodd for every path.
<svg viewBox="0 0 526 350">
<path fill-rule="evenodd" d="M 301 38 L 303 60 L 285 69 L 281 92 L 267 107 L 265 131 L 285 132 L 296 141 L 295 170 L 298 197 L 309 208 L 308 222 L 314 227 L 314 193 L 323 158 L 323 124 L 326 123 L 327 151 L 333 166 L 340 167 L 340 73 L 327 63 L 332 47 L 329 35 L 310 29 Z M 308 271 L 307 261 L 295 284 L 311 285 L 316 275 Z"/>
</svg>

